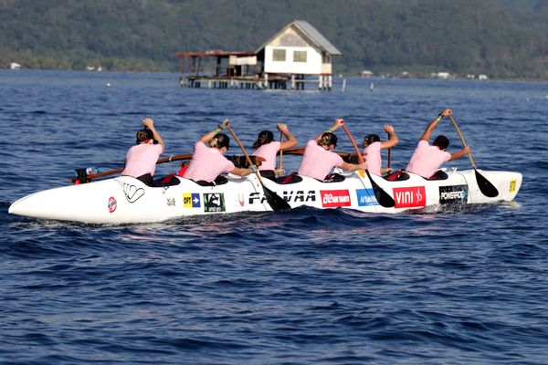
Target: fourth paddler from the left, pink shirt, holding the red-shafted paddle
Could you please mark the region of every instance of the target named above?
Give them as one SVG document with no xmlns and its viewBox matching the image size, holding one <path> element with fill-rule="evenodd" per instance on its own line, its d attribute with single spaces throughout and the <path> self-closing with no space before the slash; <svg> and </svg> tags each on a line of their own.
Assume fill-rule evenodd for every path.
<svg viewBox="0 0 548 365">
<path fill-rule="evenodd" d="M 344 162 L 341 156 L 333 152 L 337 146 L 337 136 L 333 134 L 333 131 L 340 128 L 343 123 L 344 120 L 335 120 L 329 130 L 320 133 L 316 139 L 308 141 L 300 162 L 298 173 L 301 176 L 309 176 L 320 181 L 338 181 L 342 180 L 342 176 L 335 174 L 334 177 L 328 177 L 333 167 L 349 172 L 364 170 L 367 167 L 365 162 L 360 164 Z"/>
</svg>

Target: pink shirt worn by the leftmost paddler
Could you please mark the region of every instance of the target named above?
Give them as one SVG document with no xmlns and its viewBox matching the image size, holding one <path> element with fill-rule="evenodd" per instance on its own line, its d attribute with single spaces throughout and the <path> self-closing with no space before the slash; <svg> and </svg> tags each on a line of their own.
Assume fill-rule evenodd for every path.
<svg viewBox="0 0 548 365">
<path fill-rule="evenodd" d="M 126 154 L 126 165 L 122 175 L 139 177 L 145 173 L 154 175 L 156 162 L 163 152 L 161 144 L 142 143 L 133 146 Z"/>
</svg>

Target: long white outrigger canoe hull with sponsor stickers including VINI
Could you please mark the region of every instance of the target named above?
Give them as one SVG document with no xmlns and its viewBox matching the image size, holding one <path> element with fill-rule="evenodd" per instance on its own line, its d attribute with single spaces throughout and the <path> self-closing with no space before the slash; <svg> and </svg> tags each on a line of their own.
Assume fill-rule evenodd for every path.
<svg viewBox="0 0 548 365">
<path fill-rule="evenodd" d="M 388 181 L 381 176 L 345 175 L 340 182 L 323 183 L 300 177 L 296 183 L 261 179 L 269 191 L 289 203 L 290 208 L 353 209 L 361 212 L 398 214 L 410 210 L 436 210 L 446 204 L 510 202 L 522 185 L 519 172 L 484 172 L 498 194 L 481 192 L 475 170 L 446 170 L 442 180 L 426 180 L 406 173 L 406 180 Z M 375 186 L 376 185 L 376 186 Z M 393 198 L 393 206 L 379 203 L 376 190 Z M 188 216 L 271 211 L 263 185 L 255 174 L 228 175 L 227 183 L 201 186 L 176 177 L 171 183 L 149 187 L 128 176 L 94 183 L 69 185 L 32 193 L 12 203 L 10 214 L 74 221 L 87 224 L 153 223 Z"/>
</svg>

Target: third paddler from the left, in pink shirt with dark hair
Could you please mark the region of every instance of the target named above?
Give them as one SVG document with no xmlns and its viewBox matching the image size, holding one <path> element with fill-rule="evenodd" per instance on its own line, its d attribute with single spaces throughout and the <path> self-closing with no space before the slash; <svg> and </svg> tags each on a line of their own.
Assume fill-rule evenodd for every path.
<svg viewBox="0 0 548 365">
<path fill-rule="evenodd" d="M 297 144 L 297 139 L 293 137 L 284 123 L 278 123 L 278 130 L 286 137 L 286 141 L 274 141 L 274 134 L 270 130 L 263 130 L 258 133 L 257 141 L 253 143 L 252 156 L 258 156 L 265 159 L 258 166 L 261 176 L 274 180 L 276 177 L 274 169 L 276 168 L 276 154 L 279 150 L 290 149 Z"/>
</svg>

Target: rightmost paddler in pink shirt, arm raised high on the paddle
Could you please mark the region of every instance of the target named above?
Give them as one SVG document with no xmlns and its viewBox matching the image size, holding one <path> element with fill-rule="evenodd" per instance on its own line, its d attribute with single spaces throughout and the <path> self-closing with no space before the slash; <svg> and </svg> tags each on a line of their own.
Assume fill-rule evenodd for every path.
<svg viewBox="0 0 548 365">
<path fill-rule="evenodd" d="M 425 179 L 429 179 L 443 162 L 457 160 L 469 153 L 469 146 L 453 153 L 446 151 L 449 146 L 449 140 L 443 135 L 437 136 L 432 142 L 432 145 L 428 143 L 430 134 L 432 134 L 432 131 L 436 128 L 437 123 L 452 114 L 453 110 L 444 109 L 437 115 L 435 120 L 430 121 L 427 129 L 420 138 L 420 141 L 418 141 L 418 144 L 416 145 L 416 150 L 413 152 L 411 160 L 409 160 L 409 163 L 407 164 L 407 172 L 413 172 Z"/>
</svg>

